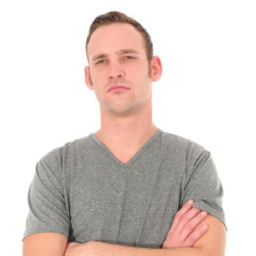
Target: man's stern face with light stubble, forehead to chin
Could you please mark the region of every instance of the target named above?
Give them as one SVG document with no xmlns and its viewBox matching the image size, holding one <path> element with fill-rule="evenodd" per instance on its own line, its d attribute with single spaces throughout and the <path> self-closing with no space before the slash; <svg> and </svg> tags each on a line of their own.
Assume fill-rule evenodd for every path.
<svg viewBox="0 0 256 256">
<path fill-rule="evenodd" d="M 133 26 L 99 27 L 87 48 L 86 83 L 100 108 L 124 116 L 151 102 L 151 74 L 143 36 Z"/>
</svg>

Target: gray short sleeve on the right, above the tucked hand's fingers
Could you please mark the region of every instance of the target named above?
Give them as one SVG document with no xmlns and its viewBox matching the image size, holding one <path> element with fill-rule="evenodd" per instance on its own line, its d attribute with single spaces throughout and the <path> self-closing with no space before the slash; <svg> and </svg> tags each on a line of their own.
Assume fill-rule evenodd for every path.
<svg viewBox="0 0 256 256">
<path fill-rule="evenodd" d="M 223 188 L 210 152 L 195 144 L 187 154 L 187 176 L 182 204 L 194 200 L 194 207 L 217 217 L 225 225 Z"/>
</svg>

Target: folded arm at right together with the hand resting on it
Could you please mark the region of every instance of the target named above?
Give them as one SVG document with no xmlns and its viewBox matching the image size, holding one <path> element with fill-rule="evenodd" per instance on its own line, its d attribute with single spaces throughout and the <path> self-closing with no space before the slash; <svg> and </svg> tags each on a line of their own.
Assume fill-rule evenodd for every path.
<svg viewBox="0 0 256 256">
<path fill-rule="evenodd" d="M 203 211 L 192 208 L 191 204 L 185 204 L 176 214 L 161 249 L 90 241 L 85 244 L 67 244 L 65 256 L 224 256 L 225 225 L 216 217 L 206 217 L 202 213 Z"/>
</svg>

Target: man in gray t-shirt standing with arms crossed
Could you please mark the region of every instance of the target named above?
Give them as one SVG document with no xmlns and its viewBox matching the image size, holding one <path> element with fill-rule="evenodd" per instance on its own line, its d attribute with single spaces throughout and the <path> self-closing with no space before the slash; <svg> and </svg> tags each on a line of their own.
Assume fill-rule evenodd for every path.
<svg viewBox="0 0 256 256">
<path fill-rule="evenodd" d="M 86 54 L 101 127 L 38 162 L 23 255 L 224 255 L 209 152 L 152 122 L 162 66 L 147 31 L 108 12 L 91 24 Z"/>
</svg>

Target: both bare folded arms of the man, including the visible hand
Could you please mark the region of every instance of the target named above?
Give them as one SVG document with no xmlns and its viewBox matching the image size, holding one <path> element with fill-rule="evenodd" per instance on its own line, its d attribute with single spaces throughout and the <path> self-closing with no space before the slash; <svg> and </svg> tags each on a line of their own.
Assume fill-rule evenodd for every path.
<svg viewBox="0 0 256 256">
<path fill-rule="evenodd" d="M 211 215 L 206 217 L 203 211 L 192 208 L 192 203 L 190 200 L 177 212 L 161 249 L 98 241 L 67 244 L 67 237 L 58 233 L 37 233 L 24 239 L 23 256 L 223 256 L 225 225 L 219 219 Z"/>
</svg>

